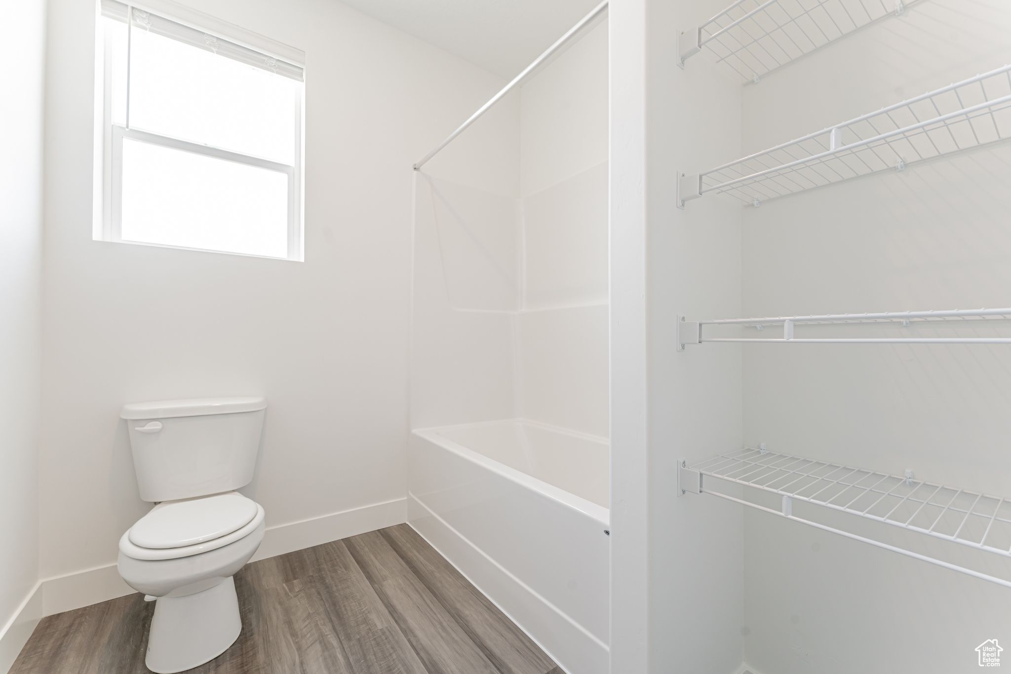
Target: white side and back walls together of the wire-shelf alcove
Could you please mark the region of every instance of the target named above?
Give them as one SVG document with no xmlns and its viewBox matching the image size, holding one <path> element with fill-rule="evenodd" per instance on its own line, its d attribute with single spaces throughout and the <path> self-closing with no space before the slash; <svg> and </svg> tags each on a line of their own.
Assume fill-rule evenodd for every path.
<svg viewBox="0 0 1011 674">
<path fill-rule="evenodd" d="M 678 314 L 1007 306 L 1009 146 L 758 208 L 710 194 L 680 210 L 675 185 L 678 172 L 705 171 L 1005 65 L 1011 11 L 997 0 L 922 0 L 741 87 L 706 52 L 684 70 L 674 66 L 676 33 L 728 4 L 646 4 L 648 670 L 975 671 L 976 647 L 1008 630 L 1011 591 L 713 496 L 678 496 L 676 463 L 766 443 L 1011 493 L 1011 350 L 704 344 L 678 353 L 675 322 Z M 808 326 L 796 334 L 829 329 L 840 332 Z M 842 329 L 899 333 L 896 325 Z M 753 328 L 741 334 L 759 336 Z M 724 491 L 779 505 L 754 490 Z M 794 512 L 1009 577 L 1006 559 L 804 504 Z"/>
</svg>

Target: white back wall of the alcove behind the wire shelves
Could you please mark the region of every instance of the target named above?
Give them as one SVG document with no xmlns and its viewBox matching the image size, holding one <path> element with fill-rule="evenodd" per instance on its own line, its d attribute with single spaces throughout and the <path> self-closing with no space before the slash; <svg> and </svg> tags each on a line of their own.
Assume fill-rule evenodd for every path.
<svg viewBox="0 0 1011 674">
<path fill-rule="evenodd" d="M 1009 35 L 1006 2 L 917 3 L 744 87 L 743 154 L 998 68 Z M 743 315 L 1005 306 L 1009 167 L 1003 143 L 745 208 Z M 748 444 L 1011 494 L 1004 346 L 748 345 L 744 373 Z M 1007 560 L 825 520 L 1008 575 Z M 791 523 L 746 515 L 756 671 L 968 672 L 1009 635 L 1011 590 Z"/>
</svg>

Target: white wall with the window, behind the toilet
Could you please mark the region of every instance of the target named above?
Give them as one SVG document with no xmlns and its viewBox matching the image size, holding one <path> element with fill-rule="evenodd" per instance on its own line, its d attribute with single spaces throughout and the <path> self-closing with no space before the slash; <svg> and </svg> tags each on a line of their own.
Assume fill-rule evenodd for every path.
<svg viewBox="0 0 1011 674">
<path fill-rule="evenodd" d="M 410 167 L 501 80 L 331 0 L 190 4 L 305 52 L 305 262 L 91 239 L 94 6 L 53 0 L 43 577 L 111 569 L 119 537 L 150 507 L 118 418 L 125 402 L 266 396 L 244 491 L 269 527 L 404 496 Z M 495 130 L 475 127 L 471 145 L 432 166 L 496 146 Z M 483 171 L 473 180 L 515 176 Z M 383 513 L 372 527 L 402 521 L 395 507 Z"/>
</svg>

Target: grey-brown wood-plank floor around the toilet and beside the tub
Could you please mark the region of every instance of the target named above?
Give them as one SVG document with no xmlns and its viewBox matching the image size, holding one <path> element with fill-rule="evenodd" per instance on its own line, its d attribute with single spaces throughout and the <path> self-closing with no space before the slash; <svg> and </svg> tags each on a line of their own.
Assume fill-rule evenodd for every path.
<svg viewBox="0 0 1011 674">
<path fill-rule="evenodd" d="M 562 674 L 406 524 L 247 564 L 243 633 L 194 674 Z M 42 618 L 10 674 L 143 674 L 154 602 Z"/>
</svg>

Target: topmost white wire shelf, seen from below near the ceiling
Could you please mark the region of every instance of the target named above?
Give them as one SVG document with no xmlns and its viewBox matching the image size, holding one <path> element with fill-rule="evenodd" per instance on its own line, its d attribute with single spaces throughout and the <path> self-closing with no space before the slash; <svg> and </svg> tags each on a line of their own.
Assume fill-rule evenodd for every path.
<svg viewBox="0 0 1011 674">
<path fill-rule="evenodd" d="M 738 0 L 678 35 L 678 66 L 702 50 L 744 82 L 889 16 L 917 0 Z"/>
</svg>

